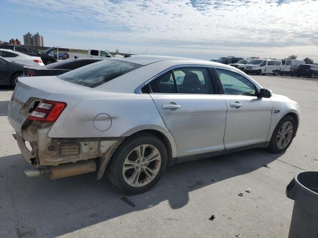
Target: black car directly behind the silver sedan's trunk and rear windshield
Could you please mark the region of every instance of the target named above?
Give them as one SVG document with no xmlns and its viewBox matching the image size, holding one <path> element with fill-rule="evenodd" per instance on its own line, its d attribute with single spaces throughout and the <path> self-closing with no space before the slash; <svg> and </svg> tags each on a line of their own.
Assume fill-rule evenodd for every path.
<svg viewBox="0 0 318 238">
<path fill-rule="evenodd" d="M 45 66 L 24 66 L 23 76 L 52 76 L 60 75 L 76 68 L 85 66 L 90 63 L 95 63 L 103 59 L 68 59 L 51 63 Z"/>
</svg>

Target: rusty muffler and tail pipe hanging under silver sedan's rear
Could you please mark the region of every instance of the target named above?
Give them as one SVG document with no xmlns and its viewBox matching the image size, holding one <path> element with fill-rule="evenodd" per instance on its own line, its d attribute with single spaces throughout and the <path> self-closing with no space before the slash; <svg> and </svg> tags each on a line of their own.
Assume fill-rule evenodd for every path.
<svg viewBox="0 0 318 238">
<path fill-rule="evenodd" d="M 61 179 L 74 175 L 81 175 L 96 171 L 96 163 L 93 159 L 66 163 L 58 166 L 50 166 L 47 169 L 25 170 L 27 177 L 33 178 L 41 175 L 50 175 L 51 179 Z"/>
</svg>

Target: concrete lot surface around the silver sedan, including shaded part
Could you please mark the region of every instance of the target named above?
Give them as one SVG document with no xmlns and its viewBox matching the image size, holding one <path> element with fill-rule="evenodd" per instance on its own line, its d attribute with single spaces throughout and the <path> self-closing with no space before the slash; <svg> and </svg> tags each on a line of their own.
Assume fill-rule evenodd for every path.
<svg viewBox="0 0 318 238">
<path fill-rule="evenodd" d="M 253 78 L 301 106 L 299 131 L 287 152 L 252 149 L 177 164 L 152 190 L 135 196 L 93 173 L 27 178 L 23 170 L 30 166 L 6 117 L 12 89 L 0 87 L 0 238 L 288 237 L 293 201 L 286 186 L 297 172 L 318 167 L 318 82 Z"/>
</svg>

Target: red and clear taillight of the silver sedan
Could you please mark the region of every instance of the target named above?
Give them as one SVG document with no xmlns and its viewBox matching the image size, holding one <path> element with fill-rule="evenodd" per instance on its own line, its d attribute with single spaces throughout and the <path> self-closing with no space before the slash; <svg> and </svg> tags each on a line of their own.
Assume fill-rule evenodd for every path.
<svg viewBox="0 0 318 238">
<path fill-rule="evenodd" d="M 67 104 L 43 100 L 29 115 L 29 120 L 56 121 Z"/>
</svg>

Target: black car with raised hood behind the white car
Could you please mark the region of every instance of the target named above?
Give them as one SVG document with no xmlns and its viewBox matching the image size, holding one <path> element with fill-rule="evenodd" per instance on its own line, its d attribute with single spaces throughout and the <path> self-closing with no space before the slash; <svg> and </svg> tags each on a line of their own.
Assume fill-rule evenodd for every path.
<svg viewBox="0 0 318 238">
<path fill-rule="evenodd" d="M 56 59 L 48 54 L 50 51 L 54 49 L 54 47 L 51 47 L 44 52 L 40 52 L 31 47 L 0 44 L 0 49 L 9 49 L 29 56 L 40 57 L 44 64 L 56 62 Z"/>
</svg>

